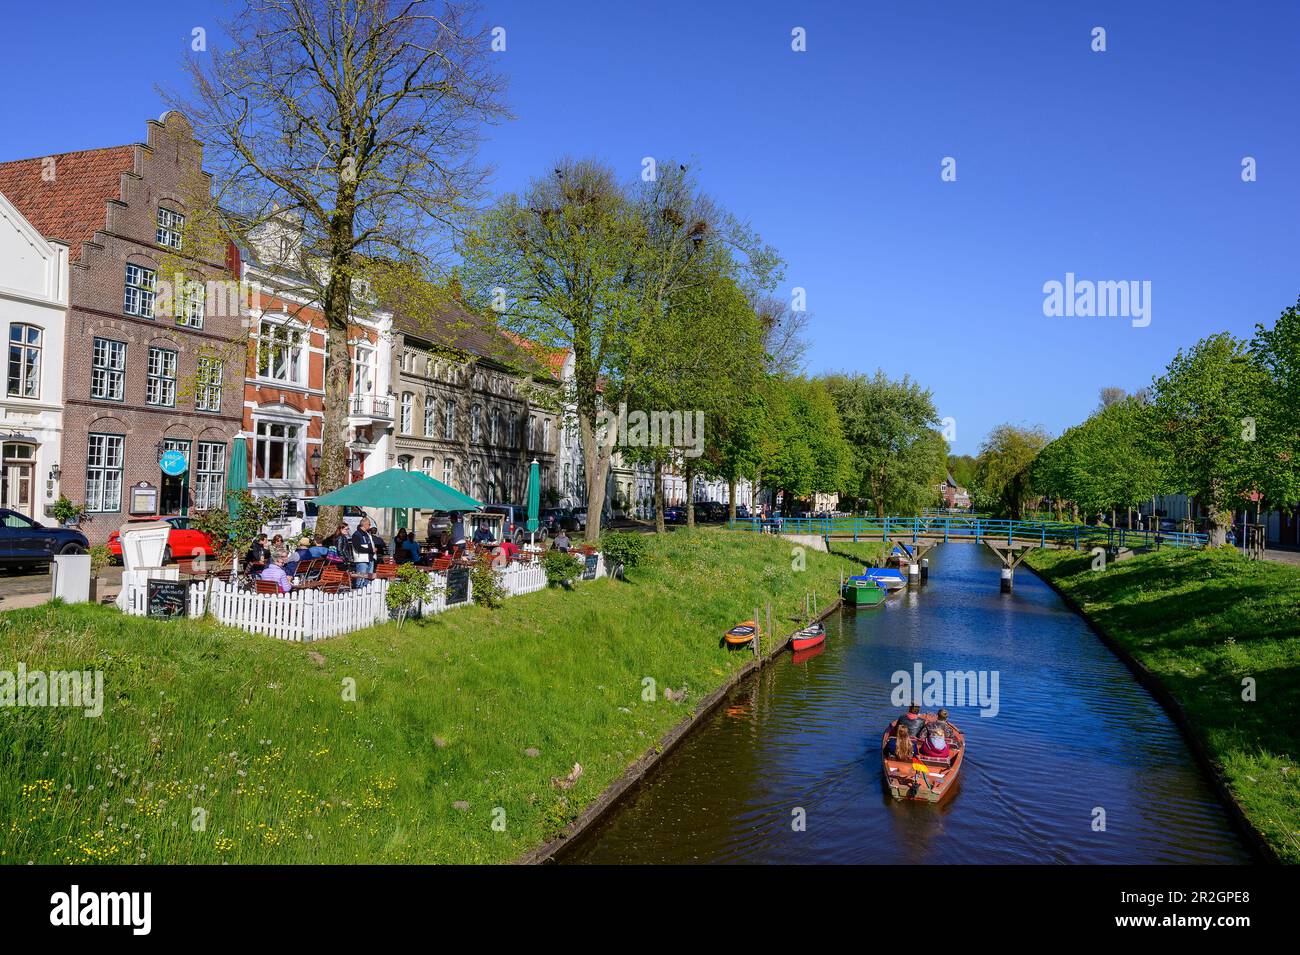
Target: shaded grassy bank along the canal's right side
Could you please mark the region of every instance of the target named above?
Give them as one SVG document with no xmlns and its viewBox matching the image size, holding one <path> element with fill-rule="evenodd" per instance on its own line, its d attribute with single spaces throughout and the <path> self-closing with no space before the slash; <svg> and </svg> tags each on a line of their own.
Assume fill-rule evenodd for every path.
<svg viewBox="0 0 1300 955">
<path fill-rule="evenodd" d="M 1074 551 L 1026 563 L 1169 690 L 1254 828 L 1300 863 L 1300 570 L 1231 550 L 1165 550 L 1106 570 Z M 1243 700 L 1248 677 L 1256 702 Z"/>
</svg>

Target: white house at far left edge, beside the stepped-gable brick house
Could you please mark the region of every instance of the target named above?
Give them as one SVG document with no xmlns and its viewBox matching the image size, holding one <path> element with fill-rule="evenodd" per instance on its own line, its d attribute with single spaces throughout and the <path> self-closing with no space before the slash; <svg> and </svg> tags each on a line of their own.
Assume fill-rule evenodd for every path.
<svg viewBox="0 0 1300 955">
<path fill-rule="evenodd" d="M 64 430 L 68 247 L 0 194 L 0 326 L 9 343 L 0 395 L 0 507 L 43 521 L 58 498 Z"/>
</svg>

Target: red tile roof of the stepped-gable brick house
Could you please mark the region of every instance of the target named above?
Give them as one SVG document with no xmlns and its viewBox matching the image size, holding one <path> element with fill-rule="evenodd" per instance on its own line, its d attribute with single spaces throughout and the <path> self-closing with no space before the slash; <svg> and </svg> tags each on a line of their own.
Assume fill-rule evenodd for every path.
<svg viewBox="0 0 1300 955">
<path fill-rule="evenodd" d="M 47 159 L 55 161 L 53 182 L 42 178 Z M 122 173 L 134 168 L 134 146 L 0 162 L 0 192 L 42 235 L 68 243 L 75 262 L 82 243 L 104 227 L 108 200 L 122 197 Z"/>
</svg>

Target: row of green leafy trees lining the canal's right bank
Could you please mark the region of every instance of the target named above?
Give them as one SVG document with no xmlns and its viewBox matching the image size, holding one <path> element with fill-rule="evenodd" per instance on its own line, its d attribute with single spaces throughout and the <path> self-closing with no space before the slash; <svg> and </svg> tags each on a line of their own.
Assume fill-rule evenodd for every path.
<svg viewBox="0 0 1300 955">
<path fill-rule="evenodd" d="M 1019 516 L 1037 499 L 1075 516 L 1186 494 L 1223 543 L 1251 502 L 1300 503 L 1300 301 L 1249 339 L 1209 335 L 1180 350 L 1149 388 L 1105 388 L 1087 421 L 1056 440 L 996 429 L 975 465 L 976 505 Z"/>
</svg>

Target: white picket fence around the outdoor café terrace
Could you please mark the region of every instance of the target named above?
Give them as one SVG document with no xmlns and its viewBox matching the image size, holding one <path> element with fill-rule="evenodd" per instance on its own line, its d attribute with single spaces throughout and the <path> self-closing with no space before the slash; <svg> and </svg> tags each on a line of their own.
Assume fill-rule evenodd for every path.
<svg viewBox="0 0 1300 955">
<path fill-rule="evenodd" d="M 595 576 L 604 573 L 604 563 L 597 560 Z M 532 594 L 546 587 L 546 572 L 540 564 L 511 564 L 502 572 L 507 595 Z M 170 579 L 176 579 L 169 576 Z M 447 574 L 430 573 L 436 594 L 420 604 L 420 616 L 442 613 L 473 602 L 473 585 L 467 587 L 465 600 L 447 604 Z M 389 608 L 385 595 L 389 582 L 370 581 L 356 590 L 326 594 L 320 590 L 295 590 L 289 594 L 257 594 L 237 583 L 220 579 L 196 581 L 187 587 L 188 616 L 202 617 L 205 612 L 220 624 L 229 624 L 248 633 L 260 633 L 281 641 L 311 643 L 338 637 L 352 630 L 363 630 L 386 622 Z M 124 574 L 122 592 L 117 605 L 133 616 L 147 613 L 146 598 L 148 577 L 140 573 L 127 579 Z"/>
</svg>

